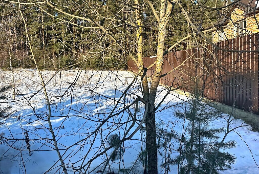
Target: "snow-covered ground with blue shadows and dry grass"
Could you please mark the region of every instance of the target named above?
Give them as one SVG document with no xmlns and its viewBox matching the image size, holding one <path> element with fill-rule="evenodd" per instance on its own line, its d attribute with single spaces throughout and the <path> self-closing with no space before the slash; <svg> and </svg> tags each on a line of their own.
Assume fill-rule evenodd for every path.
<svg viewBox="0 0 259 174">
<path fill-rule="evenodd" d="M 52 126 L 64 163 L 68 166 L 68 172 L 74 173 L 72 166 L 78 168 L 86 164 L 92 157 L 108 147 L 106 135 L 118 134 L 123 136 L 125 129 L 130 127 L 124 124 L 130 118 L 128 112 L 118 113 L 121 108 L 128 106 L 140 94 L 139 85 L 134 83 L 128 90 L 130 96 L 120 96 L 132 82 L 133 76 L 127 71 L 82 71 L 75 70 L 62 71 L 55 74 L 55 71 L 42 71 L 46 89 L 52 107 Z M 5 121 L 0 128 L 0 132 L 5 132 L 5 137 L 10 141 L 3 141 L 0 144 L 0 174 L 40 174 L 40 173 L 62 173 L 57 153 L 54 150 L 52 137 L 46 121 L 46 100 L 42 90 L 41 81 L 35 70 L 17 70 L 14 73 L 16 99 L 8 98 L 2 106 L 11 106 L 11 118 Z M 0 83 L 11 84 L 12 76 L 10 71 L 0 71 Z M 8 94 L 11 97 L 12 91 Z M 166 91 L 161 86 L 158 91 L 156 103 L 160 103 Z M 108 118 L 110 112 L 119 104 L 113 113 L 118 113 L 114 117 Z M 178 96 L 171 92 L 163 101 L 156 113 L 156 120 L 163 129 L 174 130 L 181 135 L 182 120 L 174 117 L 176 110 L 183 110 L 188 107 L 188 98 Z M 2 101 L 3 102 L 3 101 Z M 208 108 L 210 108 L 208 106 Z M 130 107 L 134 113 L 134 107 Z M 141 120 L 143 106 L 140 105 L 137 119 Z M 107 119 L 108 118 L 108 119 Z M 226 127 L 227 115 L 212 120 L 211 126 L 214 128 Z M 104 125 L 103 120 L 107 119 Z M 139 122 L 137 122 L 139 123 Z M 135 124 L 128 133 L 129 136 L 138 124 Z M 234 119 L 231 127 L 240 126 L 242 120 Z M 101 127 L 95 132 L 97 127 Z M 28 133 L 30 140 L 30 153 L 26 146 L 25 135 Z M 224 134 L 221 135 L 221 138 Z M 125 141 L 123 158 L 114 162 L 110 161 L 107 166 L 118 173 L 119 168 L 127 168 L 135 160 L 137 154 L 145 147 L 143 130 L 140 129 L 132 140 Z M 231 170 L 220 171 L 226 174 L 259 173 L 259 134 L 251 131 L 249 126 L 240 127 L 229 133 L 226 138 L 237 142 L 236 148 L 227 149 L 229 153 L 236 156 L 237 162 Z M 177 144 L 172 142 L 173 149 L 177 149 Z M 164 160 L 164 149 L 160 148 L 158 160 L 159 166 Z M 86 173 L 96 173 L 102 170 L 103 162 L 109 157 L 112 149 L 107 153 L 97 157 L 92 161 L 89 168 L 85 167 Z M 173 151 L 172 155 L 177 151 Z M 257 163 L 257 164 L 256 164 Z M 73 164 L 73 165 L 72 165 Z M 101 165 L 100 165 L 101 164 Z M 50 169 L 50 170 L 49 170 Z M 177 173 L 177 166 L 170 166 L 171 173 Z M 143 173 L 140 166 L 136 173 Z M 159 173 L 164 173 L 164 169 L 159 167 Z"/>
</svg>

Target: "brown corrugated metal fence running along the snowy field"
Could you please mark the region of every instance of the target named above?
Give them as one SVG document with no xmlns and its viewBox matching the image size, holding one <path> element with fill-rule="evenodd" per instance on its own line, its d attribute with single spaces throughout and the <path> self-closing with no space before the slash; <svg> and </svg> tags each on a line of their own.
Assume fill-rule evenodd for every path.
<svg viewBox="0 0 259 174">
<path fill-rule="evenodd" d="M 162 77 L 160 83 L 181 86 L 182 90 L 191 92 L 192 79 L 196 77 L 204 97 L 258 114 L 256 50 L 258 34 L 221 41 L 216 45 L 169 52 L 165 55 L 163 74 L 173 68 L 175 70 Z M 154 63 L 155 58 L 144 57 L 144 66 Z M 132 61 L 128 61 L 128 68 L 137 71 Z M 154 69 L 155 66 L 147 74 L 152 76 Z"/>
</svg>

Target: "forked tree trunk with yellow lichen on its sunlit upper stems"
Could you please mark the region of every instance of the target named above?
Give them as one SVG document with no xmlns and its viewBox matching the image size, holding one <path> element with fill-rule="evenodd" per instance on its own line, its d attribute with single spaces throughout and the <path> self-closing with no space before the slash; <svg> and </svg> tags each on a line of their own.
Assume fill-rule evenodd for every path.
<svg viewBox="0 0 259 174">
<path fill-rule="evenodd" d="M 137 2 L 137 3 L 136 3 Z M 139 9 L 139 2 L 138 0 L 135 0 L 135 5 L 138 5 Z M 161 0 L 160 4 L 160 14 L 156 15 L 156 18 L 159 20 L 160 16 L 160 21 L 158 21 L 158 37 L 157 37 L 157 57 L 156 57 L 156 68 L 155 68 L 155 74 L 152 78 L 150 88 L 148 88 L 148 83 L 147 83 L 147 76 L 143 76 L 142 80 L 142 88 L 143 88 L 143 97 L 144 100 L 147 102 L 149 105 L 149 111 L 146 116 L 146 151 L 147 151 L 147 156 L 148 156 L 148 174 L 157 174 L 157 144 L 156 144 L 156 121 L 155 121 L 155 98 L 156 98 L 156 91 L 157 87 L 159 85 L 159 81 L 162 75 L 162 69 L 163 69 L 163 63 L 164 63 L 164 42 L 166 39 L 166 26 L 168 24 L 169 17 L 171 15 L 172 9 L 173 9 L 174 2 L 173 1 L 166 1 L 166 0 Z M 140 22 L 137 24 L 141 25 L 141 18 L 140 15 L 138 16 L 139 13 L 137 14 L 137 19 L 140 20 Z M 142 27 L 141 28 L 141 35 L 142 35 Z M 140 29 L 137 29 L 137 39 L 138 41 L 141 40 L 142 38 L 138 37 L 138 31 Z M 143 42 L 143 41 L 142 41 Z M 141 42 L 141 45 L 143 44 Z M 139 52 L 142 53 L 142 46 L 141 49 L 139 49 L 139 42 L 138 42 L 138 59 L 139 59 Z M 141 62 L 142 67 L 143 67 L 143 54 L 142 54 L 142 59 Z M 141 67 L 141 66 L 139 66 Z M 142 76 L 141 76 L 142 77 Z"/>
</svg>

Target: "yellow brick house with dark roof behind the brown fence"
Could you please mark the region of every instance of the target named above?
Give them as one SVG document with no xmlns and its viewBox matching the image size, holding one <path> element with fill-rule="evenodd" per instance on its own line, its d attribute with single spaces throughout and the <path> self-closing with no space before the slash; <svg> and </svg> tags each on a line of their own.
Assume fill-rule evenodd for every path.
<svg viewBox="0 0 259 174">
<path fill-rule="evenodd" d="M 235 0 L 236 1 L 236 0 Z M 213 42 L 239 37 L 259 32 L 259 1 L 240 0 L 231 4 L 222 18 L 212 27 Z"/>
</svg>

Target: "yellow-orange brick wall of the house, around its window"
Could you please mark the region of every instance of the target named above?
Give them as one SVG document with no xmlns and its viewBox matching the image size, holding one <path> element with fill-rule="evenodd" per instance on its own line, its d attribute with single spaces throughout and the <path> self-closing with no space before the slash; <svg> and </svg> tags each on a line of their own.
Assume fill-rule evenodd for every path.
<svg viewBox="0 0 259 174">
<path fill-rule="evenodd" d="M 224 33 L 226 39 L 232 39 L 238 36 L 241 36 L 241 33 L 238 33 L 238 35 L 234 35 L 234 24 L 238 23 L 239 21 L 246 20 L 246 33 L 243 33 L 243 35 L 252 34 L 252 33 L 258 33 L 259 29 L 259 14 L 251 15 L 248 17 L 244 16 L 244 11 L 241 9 L 234 9 L 233 12 L 230 15 L 230 20 L 227 24 L 227 26 L 224 28 Z M 257 24 L 258 23 L 258 24 Z M 213 42 L 219 41 L 219 31 L 213 32 Z"/>
</svg>

